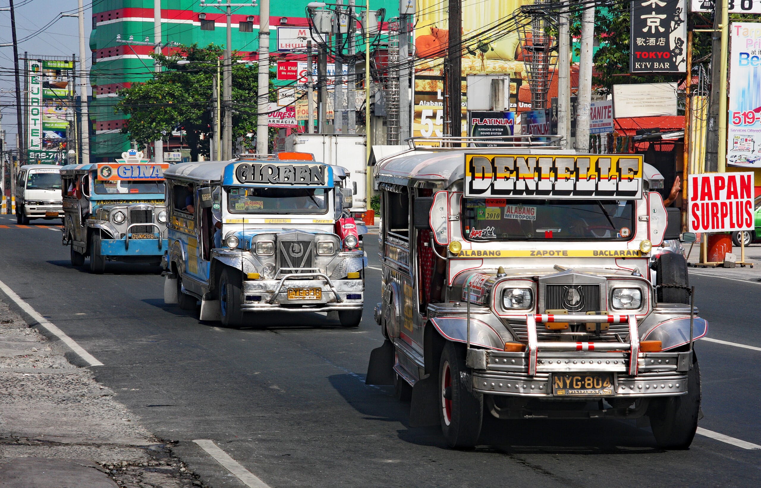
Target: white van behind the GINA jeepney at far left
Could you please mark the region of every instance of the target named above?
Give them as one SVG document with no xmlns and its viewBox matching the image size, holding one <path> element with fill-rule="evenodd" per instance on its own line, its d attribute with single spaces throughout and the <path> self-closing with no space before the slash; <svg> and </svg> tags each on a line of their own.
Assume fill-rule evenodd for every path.
<svg viewBox="0 0 761 488">
<path fill-rule="evenodd" d="M 26 164 L 18 170 L 16 222 L 30 219 L 62 219 L 61 166 Z"/>
</svg>

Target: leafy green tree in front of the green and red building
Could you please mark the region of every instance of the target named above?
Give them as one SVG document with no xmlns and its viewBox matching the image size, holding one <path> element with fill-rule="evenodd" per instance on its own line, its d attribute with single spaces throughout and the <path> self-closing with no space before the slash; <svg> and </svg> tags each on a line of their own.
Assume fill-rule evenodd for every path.
<svg viewBox="0 0 761 488">
<path fill-rule="evenodd" d="M 201 155 L 209 157 L 215 97 L 213 79 L 217 74 L 217 60 L 223 54 L 224 48 L 214 44 L 181 46 L 179 52 L 170 56 L 152 54 L 162 66 L 161 73 L 153 80 L 119 90 L 122 100 L 116 104 L 116 111 L 128 116 L 122 132 L 139 144 L 150 144 L 181 129 L 186 133 L 191 160 L 198 160 Z M 178 65 L 183 59 L 190 63 Z M 233 141 L 242 137 L 244 146 L 251 147 L 248 134 L 256 132 L 258 67 L 238 60 L 240 56 L 234 53 Z M 274 74 L 270 72 L 270 100 L 275 100 L 272 78 Z"/>
</svg>

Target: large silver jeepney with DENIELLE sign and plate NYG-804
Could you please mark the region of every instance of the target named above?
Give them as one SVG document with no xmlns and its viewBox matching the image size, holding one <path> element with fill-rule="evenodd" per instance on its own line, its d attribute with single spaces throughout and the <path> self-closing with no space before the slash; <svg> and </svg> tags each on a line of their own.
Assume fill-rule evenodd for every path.
<svg viewBox="0 0 761 488">
<path fill-rule="evenodd" d="M 642 417 L 664 448 L 692 442 L 693 341 L 708 324 L 690 304 L 683 255 L 658 249 L 694 235 L 680 235 L 678 209 L 655 192 L 662 176 L 641 156 L 412 140 L 378 161 L 375 182 L 375 318 L 387 341 L 367 381 L 411 397 L 412 426 L 440 424 L 467 447 L 483 410 Z"/>
</svg>

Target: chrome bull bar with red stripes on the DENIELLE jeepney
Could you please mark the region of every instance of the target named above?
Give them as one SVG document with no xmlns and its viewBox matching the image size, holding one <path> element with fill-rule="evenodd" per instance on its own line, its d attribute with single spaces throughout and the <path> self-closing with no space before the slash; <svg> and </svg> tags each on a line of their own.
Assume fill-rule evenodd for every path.
<svg viewBox="0 0 761 488">
<path fill-rule="evenodd" d="M 539 342 L 537 341 L 537 322 L 593 322 L 622 324 L 629 323 L 629 342 Z M 469 327 L 470 328 L 470 327 Z M 537 351 L 542 350 L 629 350 L 629 375 L 636 376 L 639 356 L 639 332 L 635 315 L 548 315 L 527 314 L 528 331 L 528 374 L 537 374 Z"/>
</svg>

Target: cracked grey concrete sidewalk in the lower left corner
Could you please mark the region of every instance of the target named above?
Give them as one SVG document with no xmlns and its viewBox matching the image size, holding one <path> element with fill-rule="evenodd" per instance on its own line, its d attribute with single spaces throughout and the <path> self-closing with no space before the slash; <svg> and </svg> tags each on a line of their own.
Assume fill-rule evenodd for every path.
<svg viewBox="0 0 761 488">
<path fill-rule="evenodd" d="M 0 302 L 0 488 L 202 486 L 93 376 Z"/>
</svg>

